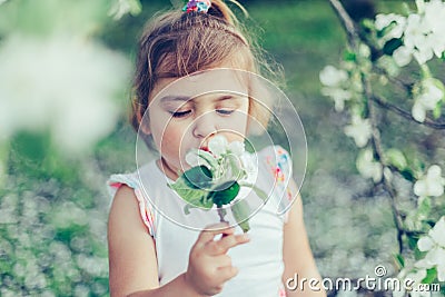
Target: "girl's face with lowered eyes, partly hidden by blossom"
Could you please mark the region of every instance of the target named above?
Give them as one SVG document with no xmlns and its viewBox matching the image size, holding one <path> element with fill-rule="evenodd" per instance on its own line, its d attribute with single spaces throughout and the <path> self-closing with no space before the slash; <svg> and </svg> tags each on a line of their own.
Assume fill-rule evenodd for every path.
<svg viewBox="0 0 445 297">
<path fill-rule="evenodd" d="M 189 168 L 186 154 L 206 149 L 215 135 L 229 142 L 244 141 L 249 99 L 246 83 L 235 70 L 210 70 L 176 79 L 159 79 L 149 105 L 149 127 L 170 179 Z"/>
</svg>

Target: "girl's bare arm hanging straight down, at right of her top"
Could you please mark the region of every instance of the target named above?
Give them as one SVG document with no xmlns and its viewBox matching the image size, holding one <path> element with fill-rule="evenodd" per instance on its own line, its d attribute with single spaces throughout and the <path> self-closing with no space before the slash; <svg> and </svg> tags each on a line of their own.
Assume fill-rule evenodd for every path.
<svg viewBox="0 0 445 297">
<path fill-rule="evenodd" d="M 297 189 L 295 182 L 291 181 L 291 184 L 289 186 Z M 286 296 L 326 296 L 307 238 L 299 196 L 289 209 L 288 221 L 284 227 L 283 258 L 285 263 L 283 283 L 286 286 Z M 289 278 L 293 281 L 289 283 Z M 296 286 L 295 290 L 289 289 Z"/>
</svg>

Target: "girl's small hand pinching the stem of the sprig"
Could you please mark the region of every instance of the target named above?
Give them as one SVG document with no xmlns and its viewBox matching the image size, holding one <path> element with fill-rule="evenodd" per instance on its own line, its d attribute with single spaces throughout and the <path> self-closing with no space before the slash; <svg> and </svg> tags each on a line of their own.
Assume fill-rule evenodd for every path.
<svg viewBox="0 0 445 297">
<path fill-rule="evenodd" d="M 221 239 L 215 240 L 219 234 L 222 235 Z M 186 283 L 199 295 L 212 296 L 220 293 L 224 284 L 238 274 L 227 251 L 248 241 L 247 235 L 234 235 L 234 228 L 227 224 L 206 227 L 190 250 Z"/>
</svg>

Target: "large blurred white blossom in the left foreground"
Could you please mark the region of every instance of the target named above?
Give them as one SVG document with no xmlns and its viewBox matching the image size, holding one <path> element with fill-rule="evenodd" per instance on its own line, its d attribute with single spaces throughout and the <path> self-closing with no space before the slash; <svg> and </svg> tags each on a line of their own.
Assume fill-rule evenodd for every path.
<svg viewBox="0 0 445 297">
<path fill-rule="evenodd" d="M 113 128 L 128 83 L 123 56 L 90 40 L 11 36 L 0 47 L 0 135 L 48 129 L 79 152 Z"/>
</svg>

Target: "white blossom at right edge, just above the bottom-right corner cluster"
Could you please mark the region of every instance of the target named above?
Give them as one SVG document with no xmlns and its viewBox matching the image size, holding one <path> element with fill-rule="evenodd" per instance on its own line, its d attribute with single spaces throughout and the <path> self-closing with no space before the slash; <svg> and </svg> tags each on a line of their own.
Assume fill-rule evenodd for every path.
<svg viewBox="0 0 445 297">
<path fill-rule="evenodd" d="M 445 179 L 442 177 L 442 169 L 437 165 L 428 168 L 426 176 L 414 184 L 414 194 L 419 197 L 438 197 L 444 194 Z"/>
</svg>

